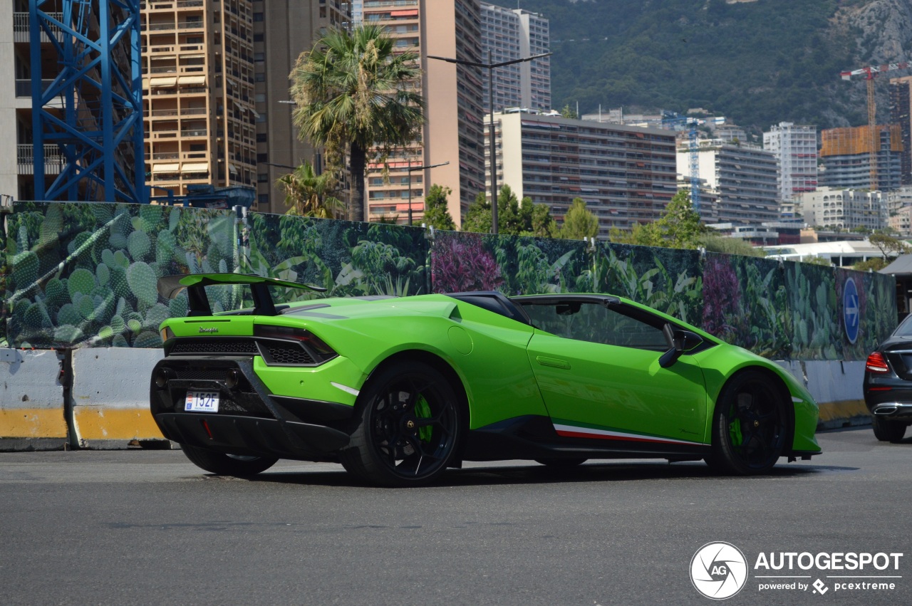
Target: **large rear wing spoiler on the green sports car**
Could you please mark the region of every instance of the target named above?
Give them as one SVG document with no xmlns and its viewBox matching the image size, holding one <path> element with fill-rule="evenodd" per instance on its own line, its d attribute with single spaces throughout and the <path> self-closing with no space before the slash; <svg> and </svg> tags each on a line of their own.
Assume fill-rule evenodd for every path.
<svg viewBox="0 0 912 606">
<path fill-rule="evenodd" d="M 264 278 L 250 273 L 190 273 L 168 275 L 159 278 L 159 294 L 165 299 L 173 299 L 184 289 L 187 289 L 189 312 L 187 315 L 212 315 L 209 297 L 206 296 L 206 286 L 225 286 L 232 284 L 247 284 L 254 297 L 254 315 L 276 315 L 273 295 L 269 292 L 270 286 L 283 288 L 298 288 L 303 290 L 323 293 L 322 286 L 312 286 L 300 282 Z"/>
</svg>

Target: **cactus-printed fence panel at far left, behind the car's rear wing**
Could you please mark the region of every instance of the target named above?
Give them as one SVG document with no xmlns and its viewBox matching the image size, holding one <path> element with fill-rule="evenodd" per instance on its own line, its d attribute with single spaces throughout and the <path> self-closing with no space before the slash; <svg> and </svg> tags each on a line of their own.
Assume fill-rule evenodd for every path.
<svg viewBox="0 0 912 606">
<path fill-rule="evenodd" d="M 5 241 L 4 272 L 14 346 L 157 346 L 158 325 L 186 302 L 161 300 L 156 281 L 199 271 L 211 255 L 226 271 L 236 266 L 227 211 L 16 202 L 6 219 L 16 234 Z"/>
</svg>

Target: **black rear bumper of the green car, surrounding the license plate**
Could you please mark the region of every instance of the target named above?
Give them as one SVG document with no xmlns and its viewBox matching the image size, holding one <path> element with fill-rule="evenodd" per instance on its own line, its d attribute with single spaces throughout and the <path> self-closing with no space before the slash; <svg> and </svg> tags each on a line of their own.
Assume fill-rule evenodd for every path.
<svg viewBox="0 0 912 606">
<path fill-rule="evenodd" d="M 217 392 L 219 412 L 185 412 L 184 400 L 193 390 Z M 348 444 L 354 406 L 273 395 L 254 373 L 253 358 L 175 356 L 152 370 L 150 411 L 162 435 L 181 444 L 331 460 Z"/>
</svg>

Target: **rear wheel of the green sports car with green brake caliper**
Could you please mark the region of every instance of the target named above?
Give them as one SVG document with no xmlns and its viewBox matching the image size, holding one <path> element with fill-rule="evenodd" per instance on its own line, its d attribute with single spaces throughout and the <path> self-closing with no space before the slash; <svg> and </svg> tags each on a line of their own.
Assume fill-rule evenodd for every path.
<svg viewBox="0 0 912 606">
<path fill-rule="evenodd" d="M 454 460 L 462 438 L 461 397 L 435 368 L 393 363 L 358 395 L 359 425 L 341 452 L 346 470 L 372 484 L 426 484 Z"/>
</svg>

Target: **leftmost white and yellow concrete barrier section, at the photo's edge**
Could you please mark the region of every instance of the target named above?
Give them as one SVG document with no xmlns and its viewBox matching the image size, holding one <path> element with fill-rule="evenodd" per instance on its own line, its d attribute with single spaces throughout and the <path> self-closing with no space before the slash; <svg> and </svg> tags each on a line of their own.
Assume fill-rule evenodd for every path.
<svg viewBox="0 0 912 606">
<path fill-rule="evenodd" d="M 58 450 L 66 445 L 57 352 L 0 348 L 0 450 Z"/>
</svg>

